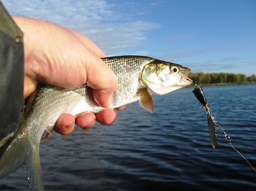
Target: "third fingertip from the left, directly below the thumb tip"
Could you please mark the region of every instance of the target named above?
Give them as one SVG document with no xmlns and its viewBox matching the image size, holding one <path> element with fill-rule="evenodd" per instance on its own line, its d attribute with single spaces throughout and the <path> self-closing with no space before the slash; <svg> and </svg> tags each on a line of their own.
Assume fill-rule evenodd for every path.
<svg viewBox="0 0 256 191">
<path fill-rule="evenodd" d="M 111 124 L 116 119 L 116 113 L 114 109 L 111 108 L 106 108 L 95 115 L 96 120 L 101 124 Z"/>
</svg>

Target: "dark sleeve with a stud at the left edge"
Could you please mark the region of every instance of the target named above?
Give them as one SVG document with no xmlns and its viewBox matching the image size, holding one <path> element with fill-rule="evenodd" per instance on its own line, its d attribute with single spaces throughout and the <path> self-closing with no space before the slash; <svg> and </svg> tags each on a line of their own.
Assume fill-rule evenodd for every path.
<svg viewBox="0 0 256 191">
<path fill-rule="evenodd" d="M 0 148 L 16 133 L 24 113 L 23 33 L 0 1 Z"/>
</svg>

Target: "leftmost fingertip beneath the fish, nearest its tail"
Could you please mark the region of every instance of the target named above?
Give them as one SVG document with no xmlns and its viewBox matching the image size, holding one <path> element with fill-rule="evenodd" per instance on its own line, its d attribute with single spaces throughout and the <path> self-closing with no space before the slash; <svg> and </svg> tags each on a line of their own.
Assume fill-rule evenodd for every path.
<svg viewBox="0 0 256 191">
<path fill-rule="evenodd" d="M 71 114 L 61 114 L 55 123 L 54 130 L 61 135 L 68 135 L 72 133 L 75 127 L 75 118 Z"/>
</svg>

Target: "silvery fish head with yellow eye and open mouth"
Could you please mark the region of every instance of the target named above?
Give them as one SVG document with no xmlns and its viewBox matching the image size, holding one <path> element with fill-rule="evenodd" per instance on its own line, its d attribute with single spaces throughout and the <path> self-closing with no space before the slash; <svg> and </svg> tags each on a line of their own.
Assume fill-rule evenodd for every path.
<svg viewBox="0 0 256 191">
<path fill-rule="evenodd" d="M 179 64 L 155 60 L 144 65 L 140 82 L 151 94 L 163 95 L 192 84 L 187 79 L 190 71 Z"/>
</svg>

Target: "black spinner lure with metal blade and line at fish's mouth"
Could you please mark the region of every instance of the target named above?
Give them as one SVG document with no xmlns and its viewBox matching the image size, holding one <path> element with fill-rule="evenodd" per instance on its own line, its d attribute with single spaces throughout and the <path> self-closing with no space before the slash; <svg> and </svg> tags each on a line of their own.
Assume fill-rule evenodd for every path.
<svg viewBox="0 0 256 191">
<path fill-rule="evenodd" d="M 189 79 L 189 78 L 187 78 L 187 79 Z M 237 149 L 234 148 L 234 146 L 231 144 L 230 136 L 228 136 L 225 133 L 224 129 L 220 127 L 219 123 L 211 115 L 210 109 L 209 109 L 209 106 L 207 104 L 206 97 L 205 97 L 205 94 L 204 94 L 204 91 L 203 91 L 203 88 L 201 86 L 198 86 L 196 81 L 194 81 L 194 80 L 191 80 L 191 81 L 192 81 L 192 84 L 196 86 L 195 89 L 192 92 L 195 94 L 197 100 L 203 105 L 203 107 L 206 110 L 207 122 L 208 122 L 208 127 L 209 127 L 209 133 L 210 133 L 212 148 L 216 149 L 217 146 L 218 146 L 217 134 L 216 134 L 216 130 L 215 130 L 215 126 L 216 126 L 216 127 L 219 128 L 220 132 L 222 132 L 222 134 L 227 139 L 227 141 L 229 141 L 229 144 L 231 145 L 231 147 L 235 151 L 237 151 L 239 153 L 239 155 L 241 155 L 241 157 L 243 157 L 245 159 L 245 161 L 248 163 L 248 165 L 250 165 L 252 167 L 252 169 L 254 171 L 256 171 L 255 168 L 249 163 L 249 161 Z"/>
</svg>

